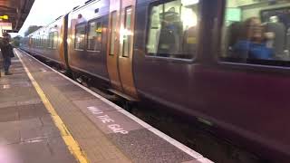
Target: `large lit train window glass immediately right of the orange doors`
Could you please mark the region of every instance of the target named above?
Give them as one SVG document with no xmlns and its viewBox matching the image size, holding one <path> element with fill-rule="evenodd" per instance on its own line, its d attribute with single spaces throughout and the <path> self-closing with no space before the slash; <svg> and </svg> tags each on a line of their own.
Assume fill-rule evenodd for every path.
<svg viewBox="0 0 290 163">
<path fill-rule="evenodd" d="M 150 9 L 147 53 L 192 59 L 197 53 L 198 0 L 175 0 Z"/>
</svg>

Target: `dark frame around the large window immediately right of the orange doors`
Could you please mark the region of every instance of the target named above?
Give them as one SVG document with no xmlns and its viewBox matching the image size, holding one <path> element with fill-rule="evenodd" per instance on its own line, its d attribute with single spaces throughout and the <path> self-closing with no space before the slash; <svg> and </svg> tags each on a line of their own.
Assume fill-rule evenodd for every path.
<svg viewBox="0 0 290 163">
<path fill-rule="evenodd" d="M 151 2 L 149 7 L 147 7 L 147 10 L 146 10 L 146 22 L 145 22 L 145 37 L 144 37 L 144 43 L 145 43 L 145 46 L 143 47 L 144 48 L 144 52 L 145 52 L 145 59 L 149 59 L 149 60 L 163 60 L 163 61 L 167 61 L 167 62 L 186 62 L 186 63 L 196 63 L 198 62 L 198 58 L 200 57 L 201 53 L 200 53 L 200 43 L 201 43 L 201 37 L 202 37 L 202 24 L 203 24 L 203 21 L 202 21 L 202 13 L 203 13 L 203 9 L 204 9 L 204 5 L 202 3 L 202 0 L 199 0 L 198 2 L 198 12 L 196 13 L 197 16 L 198 16 L 198 30 L 197 30 L 197 49 L 196 49 L 196 53 L 193 54 L 193 57 L 192 58 L 178 58 L 178 57 L 164 57 L 164 56 L 159 56 L 159 55 L 150 55 L 150 53 L 148 53 L 148 48 L 147 48 L 147 43 L 149 41 L 149 35 L 150 35 L 150 14 L 151 14 L 151 11 L 152 11 L 152 8 L 154 6 L 157 6 L 157 5 L 162 5 L 162 4 L 166 4 L 166 3 L 169 3 L 169 2 L 173 2 L 173 1 L 176 1 L 176 0 L 163 0 L 163 1 L 154 1 L 154 2 Z"/>
</svg>

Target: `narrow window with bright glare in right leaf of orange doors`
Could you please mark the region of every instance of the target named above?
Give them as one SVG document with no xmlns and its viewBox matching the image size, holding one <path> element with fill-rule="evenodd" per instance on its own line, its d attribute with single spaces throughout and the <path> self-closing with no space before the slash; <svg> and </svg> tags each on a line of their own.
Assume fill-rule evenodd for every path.
<svg viewBox="0 0 290 163">
<path fill-rule="evenodd" d="M 132 31 L 131 31 L 131 16 L 132 8 L 127 7 L 125 10 L 125 24 L 124 29 L 121 30 L 121 39 L 123 43 L 122 56 L 129 57 L 131 55 L 131 45 L 132 45 Z"/>
</svg>

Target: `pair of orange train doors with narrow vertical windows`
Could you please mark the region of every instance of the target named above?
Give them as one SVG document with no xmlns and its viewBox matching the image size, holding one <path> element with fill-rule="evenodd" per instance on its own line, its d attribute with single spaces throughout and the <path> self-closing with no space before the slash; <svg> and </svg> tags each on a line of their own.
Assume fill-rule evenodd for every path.
<svg viewBox="0 0 290 163">
<path fill-rule="evenodd" d="M 107 68 L 116 91 L 137 98 L 132 55 L 136 0 L 110 0 Z"/>
</svg>

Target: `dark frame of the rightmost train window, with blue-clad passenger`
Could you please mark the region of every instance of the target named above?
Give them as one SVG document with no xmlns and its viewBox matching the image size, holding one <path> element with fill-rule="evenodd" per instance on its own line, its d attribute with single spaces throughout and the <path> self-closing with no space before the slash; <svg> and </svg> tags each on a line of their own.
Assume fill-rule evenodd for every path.
<svg viewBox="0 0 290 163">
<path fill-rule="evenodd" d="M 288 72 L 290 71 L 290 60 L 289 61 L 283 61 L 283 60 L 261 60 L 261 59 L 252 59 L 247 60 L 247 62 L 238 62 L 233 61 L 237 58 L 230 58 L 227 57 L 227 52 L 223 51 L 222 45 L 225 42 L 223 40 L 223 37 L 226 32 L 223 32 L 223 29 L 225 28 L 226 24 L 226 14 L 227 14 L 227 1 L 228 0 L 219 0 L 222 2 L 222 5 L 219 10 L 221 11 L 218 14 L 219 19 L 219 27 L 218 27 L 218 38 L 215 38 L 217 46 L 216 49 L 218 49 L 217 53 L 217 61 L 219 65 L 226 66 L 227 68 L 234 68 L 234 69 L 243 69 L 243 70 L 256 70 L 256 71 L 262 71 L 262 72 Z M 277 7 L 275 9 L 282 9 L 282 8 L 289 8 L 287 7 Z M 274 9 L 264 9 L 260 10 L 258 13 L 258 18 L 261 19 L 262 12 L 268 11 L 268 10 L 274 10 Z"/>
</svg>

